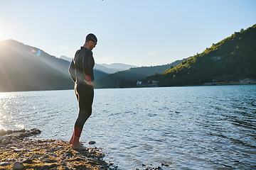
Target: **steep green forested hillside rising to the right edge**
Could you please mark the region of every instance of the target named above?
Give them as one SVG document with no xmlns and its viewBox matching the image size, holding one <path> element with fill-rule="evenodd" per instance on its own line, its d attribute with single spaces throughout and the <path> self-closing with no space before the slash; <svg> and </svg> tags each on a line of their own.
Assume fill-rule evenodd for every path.
<svg viewBox="0 0 256 170">
<path fill-rule="evenodd" d="M 256 24 L 241 29 L 162 74 L 147 77 L 159 86 L 198 85 L 256 79 Z"/>
</svg>

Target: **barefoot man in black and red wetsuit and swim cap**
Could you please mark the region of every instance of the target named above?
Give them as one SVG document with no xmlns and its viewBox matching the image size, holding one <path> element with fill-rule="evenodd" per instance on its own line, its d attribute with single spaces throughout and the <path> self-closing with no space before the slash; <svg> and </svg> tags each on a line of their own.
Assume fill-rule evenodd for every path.
<svg viewBox="0 0 256 170">
<path fill-rule="evenodd" d="M 92 57 L 92 49 L 97 45 L 97 38 L 90 33 L 85 38 L 85 44 L 75 53 L 75 57 L 70 62 L 68 72 L 75 82 L 75 96 L 78 99 L 79 113 L 75 121 L 73 135 L 70 139 L 73 149 L 85 149 L 79 142 L 83 125 L 92 114 L 92 101 L 94 96 L 94 75 L 95 65 Z"/>
</svg>

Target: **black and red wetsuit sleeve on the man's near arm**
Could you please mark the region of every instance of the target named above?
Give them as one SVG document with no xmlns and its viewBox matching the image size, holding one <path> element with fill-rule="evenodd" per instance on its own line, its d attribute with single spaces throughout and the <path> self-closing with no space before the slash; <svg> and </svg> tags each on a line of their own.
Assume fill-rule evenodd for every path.
<svg viewBox="0 0 256 170">
<path fill-rule="evenodd" d="M 82 58 L 82 68 L 83 72 L 85 74 L 85 79 L 86 81 L 91 81 L 92 80 L 92 74 L 91 68 L 90 68 L 90 62 L 92 60 L 92 52 L 86 52 L 85 56 Z"/>
</svg>

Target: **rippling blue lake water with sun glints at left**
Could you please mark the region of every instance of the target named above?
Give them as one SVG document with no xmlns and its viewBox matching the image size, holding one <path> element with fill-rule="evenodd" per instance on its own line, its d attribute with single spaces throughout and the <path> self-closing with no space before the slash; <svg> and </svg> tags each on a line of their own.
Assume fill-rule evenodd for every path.
<svg viewBox="0 0 256 170">
<path fill-rule="evenodd" d="M 70 140 L 73 90 L 0 93 L 0 129 Z M 81 140 L 120 169 L 256 169 L 256 85 L 95 89 Z"/>
</svg>

